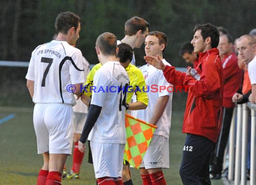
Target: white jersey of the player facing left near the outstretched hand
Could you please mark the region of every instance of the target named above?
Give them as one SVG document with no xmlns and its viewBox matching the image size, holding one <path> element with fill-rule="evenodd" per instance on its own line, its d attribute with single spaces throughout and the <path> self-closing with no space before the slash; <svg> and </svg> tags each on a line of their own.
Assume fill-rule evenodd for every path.
<svg viewBox="0 0 256 185">
<path fill-rule="evenodd" d="M 164 59 L 163 59 L 163 62 L 166 65 L 170 66 L 170 64 L 168 62 L 166 62 Z M 167 80 L 165 79 L 165 77 L 163 75 L 163 70 L 158 70 L 154 66 L 151 66 L 148 64 L 141 66 L 140 70 L 142 71 L 142 73 L 144 75 L 144 79 L 145 79 L 146 85 L 148 87 L 147 95 L 149 98 L 149 102 L 148 102 L 148 106 L 146 109 L 132 110 L 131 115 L 134 116 L 135 118 L 142 119 L 146 122 L 149 122 L 150 118 L 153 114 L 154 106 L 155 106 L 158 98 L 168 95 L 169 101 L 163 111 L 163 115 L 161 116 L 161 118 L 159 119 L 159 121 L 156 124 L 156 126 L 158 128 L 155 129 L 154 135 L 161 135 L 161 136 L 169 138 L 170 128 L 171 128 L 171 115 L 172 115 L 172 93 L 170 93 L 170 92 L 172 92 L 172 88 L 170 88 L 170 86 L 172 86 L 172 85 L 169 84 L 167 82 Z M 160 90 L 160 86 L 162 86 L 162 89 L 164 87 L 166 87 L 166 89 L 169 87 L 168 88 L 169 92 L 166 89 Z M 146 89 L 146 88 L 144 88 L 144 89 Z M 142 90 L 143 89 L 141 89 L 141 91 Z M 133 102 L 136 102 L 137 101 L 136 96 L 133 96 L 132 100 L 133 100 Z"/>
</svg>

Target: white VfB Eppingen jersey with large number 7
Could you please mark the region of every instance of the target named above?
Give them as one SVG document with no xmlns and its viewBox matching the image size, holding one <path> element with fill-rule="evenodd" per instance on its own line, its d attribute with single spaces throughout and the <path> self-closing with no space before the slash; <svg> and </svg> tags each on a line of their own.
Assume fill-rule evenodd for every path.
<svg viewBox="0 0 256 185">
<path fill-rule="evenodd" d="M 52 40 L 32 52 L 26 79 L 35 81 L 34 103 L 75 105 L 71 84 L 84 83 L 82 53 L 66 41 Z"/>
</svg>

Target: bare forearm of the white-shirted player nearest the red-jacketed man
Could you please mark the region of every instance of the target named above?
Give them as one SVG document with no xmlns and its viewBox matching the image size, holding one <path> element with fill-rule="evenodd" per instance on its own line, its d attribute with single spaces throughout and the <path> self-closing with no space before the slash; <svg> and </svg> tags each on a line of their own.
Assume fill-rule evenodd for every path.
<svg viewBox="0 0 256 185">
<path fill-rule="evenodd" d="M 168 103 L 168 100 L 169 100 L 168 95 L 158 98 L 154 106 L 153 115 L 151 116 L 149 123 L 156 125 L 156 123 L 159 121 L 159 119 L 163 115 L 163 111 Z"/>
</svg>

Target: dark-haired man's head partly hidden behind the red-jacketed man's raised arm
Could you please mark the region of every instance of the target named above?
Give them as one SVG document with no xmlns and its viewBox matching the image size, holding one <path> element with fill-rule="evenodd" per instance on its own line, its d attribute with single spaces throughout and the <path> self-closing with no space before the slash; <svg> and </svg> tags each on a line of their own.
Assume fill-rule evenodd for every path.
<svg viewBox="0 0 256 185">
<path fill-rule="evenodd" d="M 198 65 L 197 54 L 194 53 L 194 47 L 190 42 L 186 42 L 181 46 L 180 56 L 186 61 L 193 65 L 194 69 Z"/>
</svg>

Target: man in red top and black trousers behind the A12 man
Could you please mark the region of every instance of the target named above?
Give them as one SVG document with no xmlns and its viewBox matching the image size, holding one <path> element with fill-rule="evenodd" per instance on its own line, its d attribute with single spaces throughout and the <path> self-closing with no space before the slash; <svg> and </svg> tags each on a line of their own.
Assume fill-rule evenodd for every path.
<svg viewBox="0 0 256 185">
<path fill-rule="evenodd" d="M 230 134 L 230 124 L 235 106 L 234 102 L 232 102 L 232 97 L 238 91 L 243 79 L 243 70 L 239 69 L 238 58 L 233 52 L 233 38 L 231 35 L 221 35 L 218 48 L 220 55 L 223 56 L 221 60 L 224 78 L 223 118 L 220 136 L 215 145 L 211 163 L 211 179 L 221 179 L 223 157 Z"/>
</svg>

